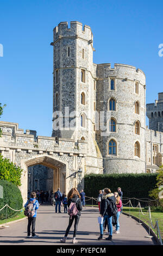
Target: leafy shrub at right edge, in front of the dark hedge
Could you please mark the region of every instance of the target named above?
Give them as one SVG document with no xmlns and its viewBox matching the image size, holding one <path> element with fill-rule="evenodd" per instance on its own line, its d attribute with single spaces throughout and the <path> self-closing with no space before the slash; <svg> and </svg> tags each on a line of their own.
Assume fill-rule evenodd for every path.
<svg viewBox="0 0 163 256">
<path fill-rule="evenodd" d="M 156 188 L 149 191 L 149 196 L 158 199 L 160 205 L 163 207 L 163 166 L 160 166 L 158 173 L 159 174 L 156 177 Z"/>
</svg>

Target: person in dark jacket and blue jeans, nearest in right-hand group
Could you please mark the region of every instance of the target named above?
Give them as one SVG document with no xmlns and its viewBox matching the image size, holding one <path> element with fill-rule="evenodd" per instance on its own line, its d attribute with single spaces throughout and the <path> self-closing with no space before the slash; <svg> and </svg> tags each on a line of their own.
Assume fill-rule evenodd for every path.
<svg viewBox="0 0 163 256">
<path fill-rule="evenodd" d="M 112 240 L 112 215 L 113 215 L 112 207 L 113 205 L 115 205 L 115 201 L 116 199 L 114 197 L 114 194 L 111 193 L 110 189 L 104 188 L 104 196 L 102 197 L 100 215 L 101 217 L 103 217 L 103 223 L 107 218 L 108 224 L 109 224 L 109 236 L 106 238 L 106 240 Z M 116 208 L 116 205 L 115 205 L 115 208 Z M 100 236 L 98 237 L 98 240 L 103 239 L 103 223 L 99 224 Z"/>
</svg>

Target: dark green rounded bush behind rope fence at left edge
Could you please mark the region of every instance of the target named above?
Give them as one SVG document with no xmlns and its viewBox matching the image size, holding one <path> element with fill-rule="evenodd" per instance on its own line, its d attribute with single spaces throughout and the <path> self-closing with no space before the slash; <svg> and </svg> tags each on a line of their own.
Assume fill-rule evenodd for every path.
<svg viewBox="0 0 163 256">
<path fill-rule="evenodd" d="M 23 199 L 20 189 L 13 183 L 7 180 L 0 180 L 0 186 L 3 191 L 2 198 L 0 198 L 0 209 L 8 204 L 14 210 L 23 208 Z M 7 209 L 7 217 L 15 216 L 19 212 Z M 6 207 L 0 211 L 0 220 L 4 220 L 6 216 Z"/>
</svg>

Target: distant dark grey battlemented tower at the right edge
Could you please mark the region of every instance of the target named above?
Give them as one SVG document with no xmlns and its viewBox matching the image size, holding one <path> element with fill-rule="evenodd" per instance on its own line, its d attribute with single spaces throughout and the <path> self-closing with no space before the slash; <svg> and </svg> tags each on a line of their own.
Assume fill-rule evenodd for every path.
<svg viewBox="0 0 163 256">
<path fill-rule="evenodd" d="M 158 100 L 155 100 L 155 103 L 146 105 L 146 111 L 149 129 L 163 132 L 163 93 L 158 93 Z"/>
</svg>

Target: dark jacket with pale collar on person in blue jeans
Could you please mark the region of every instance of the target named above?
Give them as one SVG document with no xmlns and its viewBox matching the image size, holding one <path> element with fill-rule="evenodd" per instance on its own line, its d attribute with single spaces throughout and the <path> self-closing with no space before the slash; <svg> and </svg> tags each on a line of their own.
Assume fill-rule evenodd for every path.
<svg viewBox="0 0 163 256">
<path fill-rule="evenodd" d="M 101 201 L 101 209 L 100 209 L 100 214 L 102 216 L 104 215 L 108 215 L 109 217 L 112 216 L 110 214 L 110 200 L 114 200 L 116 201 L 115 199 L 115 196 L 113 193 L 109 193 L 109 194 L 105 194 L 105 196 L 102 197 L 102 201 Z"/>
</svg>

